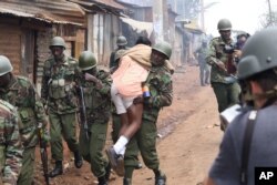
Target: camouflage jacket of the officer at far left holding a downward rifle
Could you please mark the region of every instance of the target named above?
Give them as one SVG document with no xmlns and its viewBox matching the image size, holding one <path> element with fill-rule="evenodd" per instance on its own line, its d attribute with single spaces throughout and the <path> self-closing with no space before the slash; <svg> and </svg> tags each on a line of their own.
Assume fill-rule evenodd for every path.
<svg viewBox="0 0 277 185">
<path fill-rule="evenodd" d="M 38 143 L 38 124 L 48 124 L 42 102 L 33 84 L 23 76 L 14 76 L 6 89 L 0 89 L 0 99 L 18 107 L 21 123 L 19 131 L 24 147 L 35 146 Z"/>
</svg>

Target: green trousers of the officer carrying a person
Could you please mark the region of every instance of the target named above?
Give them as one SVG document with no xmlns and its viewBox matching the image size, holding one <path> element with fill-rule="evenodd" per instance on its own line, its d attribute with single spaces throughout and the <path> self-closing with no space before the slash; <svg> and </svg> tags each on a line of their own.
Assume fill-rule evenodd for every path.
<svg viewBox="0 0 277 185">
<path fill-rule="evenodd" d="M 156 151 L 156 122 L 143 120 L 141 129 L 130 140 L 124 155 L 125 178 L 132 178 L 137 166 L 137 155 L 141 152 L 144 164 L 151 169 L 160 168 Z"/>
</svg>

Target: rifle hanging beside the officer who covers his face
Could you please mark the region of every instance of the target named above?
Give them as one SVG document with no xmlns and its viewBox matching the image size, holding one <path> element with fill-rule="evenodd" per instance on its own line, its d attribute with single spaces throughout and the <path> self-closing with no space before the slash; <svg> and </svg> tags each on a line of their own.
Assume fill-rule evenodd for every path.
<svg viewBox="0 0 277 185">
<path fill-rule="evenodd" d="M 84 90 L 83 86 L 79 85 L 79 96 L 80 96 L 80 121 L 83 124 L 85 132 L 85 138 L 89 141 L 89 126 L 86 122 L 86 110 L 84 104 Z"/>
</svg>

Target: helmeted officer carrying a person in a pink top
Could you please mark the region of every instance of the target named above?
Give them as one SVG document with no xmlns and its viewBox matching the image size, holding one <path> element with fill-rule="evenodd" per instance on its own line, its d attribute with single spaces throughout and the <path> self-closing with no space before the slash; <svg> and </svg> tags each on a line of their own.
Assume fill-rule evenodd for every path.
<svg viewBox="0 0 277 185">
<path fill-rule="evenodd" d="M 152 49 L 148 76 L 145 84 L 150 89 L 151 97 L 136 97 L 134 103 L 143 103 L 143 119 L 141 129 L 131 138 L 125 156 L 124 185 L 132 184 L 133 171 L 137 166 L 137 147 L 140 148 L 145 165 L 155 174 L 155 185 L 165 185 L 166 176 L 160 168 L 160 161 L 156 151 L 156 121 L 160 110 L 163 106 L 170 106 L 173 99 L 173 88 L 171 73 L 165 68 L 165 61 L 170 60 L 172 47 L 167 42 L 160 42 Z"/>
</svg>

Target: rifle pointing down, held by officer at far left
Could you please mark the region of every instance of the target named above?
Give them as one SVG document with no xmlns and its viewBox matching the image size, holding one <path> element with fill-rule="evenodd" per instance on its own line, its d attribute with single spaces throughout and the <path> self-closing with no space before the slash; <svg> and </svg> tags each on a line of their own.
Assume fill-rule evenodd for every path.
<svg viewBox="0 0 277 185">
<path fill-rule="evenodd" d="M 42 138 L 42 134 L 43 134 L 42 123 L 39 123 L 38 136 L 40 141 L 40 156 L 41 156 L 41 162 L 42 162 L 43 176 L 44 176 L 47 185 L 50 185 L 49 176 L 48 176 L 48 151 L 47 151 L 45 141 L 43 141 Z"/>
</svg>

